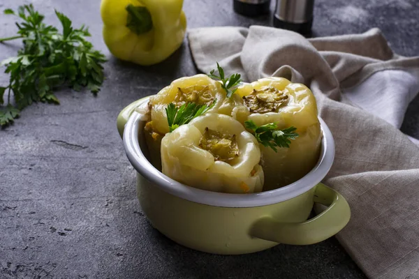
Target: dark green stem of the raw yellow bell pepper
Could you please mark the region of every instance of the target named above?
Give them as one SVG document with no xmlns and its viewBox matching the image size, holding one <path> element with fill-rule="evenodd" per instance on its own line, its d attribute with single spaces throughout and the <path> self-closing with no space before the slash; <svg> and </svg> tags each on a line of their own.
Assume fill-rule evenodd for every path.
<svg viewBox="0 0 419 279">
<path fill-rule="evenodd" d="M 125 7 L 128 12 L 126 27 L 131 29 L 137 35 L 146 33 L 153 28 L 152 15 L 144 6 L 133 6 L 129 4 Z"/>
</svg>

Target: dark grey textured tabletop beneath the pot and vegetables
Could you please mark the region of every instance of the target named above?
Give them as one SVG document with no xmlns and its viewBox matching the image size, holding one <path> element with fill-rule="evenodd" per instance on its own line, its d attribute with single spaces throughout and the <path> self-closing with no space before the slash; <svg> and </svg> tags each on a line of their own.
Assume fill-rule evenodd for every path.
<svg viewBox="0 0 419 279">
<path fill-rule="evenodd" d="M 17 8 L 0 0 L 0 10 Z M 85 23 L 95 47 L 101 38 L 100 2 L 32 1 L 58 24 L 54 8 L 75 26 Z M 271 17 L 236 15 L 231 1 L 185 0 L 188 27 L 269 25 Z M 419 54 L 416 0 L 318 0 L 314 35 L 380 28 L 398 54 Z M 15 18 L 0 15 L 0 37 L 15 33 Z M 0 44 L 0 60 L 20 42 Z M 110 57 L 96 98 L 63 89 L 61 105 L 28 107 L 0 130 L 0 278 L 363 278 L 335 239 L 313 246 L 277 246 L 242 256 L 196 252 L 156 232 L 135 197 L 135 173 L 115 125 L 125 105 L 156 93 L 177 77 L 196 74 L 184 45 L 160 65 L 141 67 Z M 0 73 L 0 84 L 8 76 Z M 402 130 L 419 137 L 419 97 Z"/>
</svg>

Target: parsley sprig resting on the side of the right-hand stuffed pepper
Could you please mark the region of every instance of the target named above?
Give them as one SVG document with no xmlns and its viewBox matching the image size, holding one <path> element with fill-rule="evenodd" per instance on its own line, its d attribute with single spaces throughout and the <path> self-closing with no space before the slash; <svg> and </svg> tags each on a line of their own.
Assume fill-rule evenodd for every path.
<svg viewBox="0 0 419 279">
<path fill-rule="evenodd" d="M 265 147 L 270 147 L 275 152 L 278 152 L 277 147 L 289 148 L 291 141 L 298 137 L 297 133 L 294 133 L 297 128 L 291 126 L 283 130 L 277 130 L 276 123 L 267 123 L 262 126 L 257 126 L 253 121 L 245 121 L 244 126 L 251 130 L 256 140 L 263 144 Z"/>
</svg>

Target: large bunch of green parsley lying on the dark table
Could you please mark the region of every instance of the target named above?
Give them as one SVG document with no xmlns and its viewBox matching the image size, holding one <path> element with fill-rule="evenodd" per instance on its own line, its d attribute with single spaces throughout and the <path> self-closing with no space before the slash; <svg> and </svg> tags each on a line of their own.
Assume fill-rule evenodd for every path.
<svg viewBox="0 0 419 279">
<path fill-rule="evenodd" d="M 16 23 L 18 36 L 0 38 L 6 40 L 23 39 L 23 48 L 17 56 L 1 62 L 10 74 L 8 86 L 0 86 L 0 105 L 4 93 L 8 92 L 7 105 L 0 107 L 0 126 L 13 122 L 20 111 L 33 102 L 59 103 L 54 89 L 70 86 L 75 91 L 82 87 L 97 93 L 103 83 L 105 56 L 93 49 L 86 40 L 91 36 L 87 27 L 74 29 L 71 20 L 55 11 L 62 25 L 62 33 L 57 28 L 43 23 L 44 16 L 34 10 L 34 6 L 24 5 L 17 9 L 4 10 L 6 15 L 17 15 L 22 22 Z M 13 91 L 15 105 L 10 102 Z"/>
</svg>

